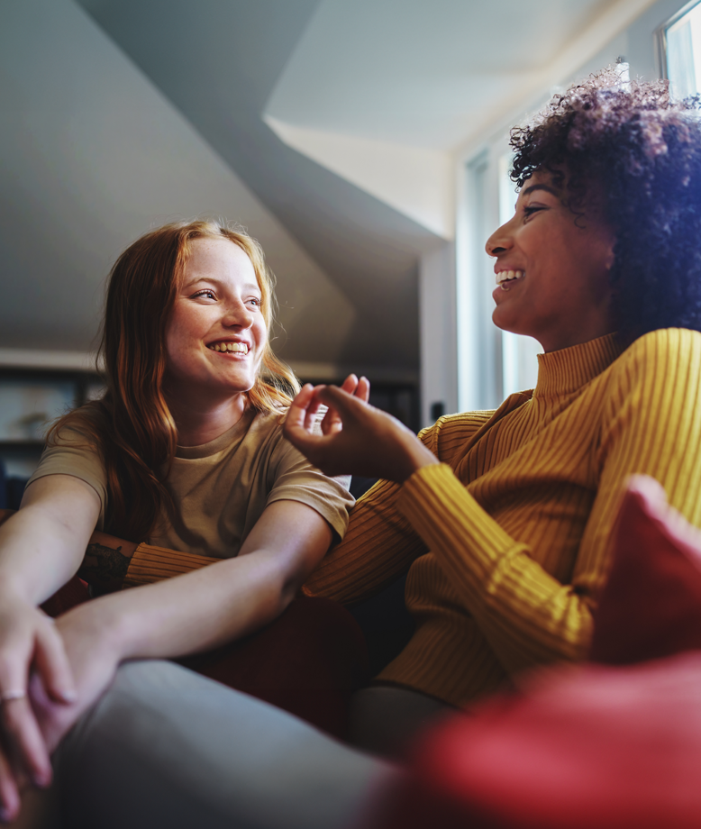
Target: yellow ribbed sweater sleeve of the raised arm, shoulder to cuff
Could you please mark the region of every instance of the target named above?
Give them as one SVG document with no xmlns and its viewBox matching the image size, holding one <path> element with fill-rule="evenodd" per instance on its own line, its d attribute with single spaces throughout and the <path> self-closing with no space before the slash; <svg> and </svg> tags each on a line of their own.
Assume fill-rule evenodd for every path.
<svg viewBox="0 0 701 829">
<path fill-rule="evenodd" d="M 626 478 L 644 473 L 701 523 L 701 335 L 653 332 L 616 361 L 593 448 L 598 487 L 570 584 L 478 505 L 446 465 L 418 470 L 397 511 L 435 553 L 506 670 L 586 655 Z"/>
</svg>

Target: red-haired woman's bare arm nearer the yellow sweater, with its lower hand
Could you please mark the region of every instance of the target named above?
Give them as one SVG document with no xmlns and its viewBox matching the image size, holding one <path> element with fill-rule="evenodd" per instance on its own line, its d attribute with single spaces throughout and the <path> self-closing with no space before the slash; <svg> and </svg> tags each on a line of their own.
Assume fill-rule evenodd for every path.
<svg viewBox="0 0 701 829">
<path fill-rule="evenodd" d="M 57 627 L 77 680 L 78 700 L 38 699 L 42 730 L 55 746 L 103 693 L 120 661 L 180 656 L 251 633 L 287 607 L 332 540 L 329 524 L 296 501 L 268 506 L 239 556 L 177 578 L 87 602 Z"/>
</svg>

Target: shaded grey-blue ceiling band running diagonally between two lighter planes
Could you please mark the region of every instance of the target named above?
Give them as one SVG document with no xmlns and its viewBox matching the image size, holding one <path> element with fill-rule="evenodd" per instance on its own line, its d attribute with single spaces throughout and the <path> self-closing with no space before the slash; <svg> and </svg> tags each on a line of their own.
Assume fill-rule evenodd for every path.
<svg viewBox="0 0 701 829">
<path fill-rule="evenodd" d="M 315 2 L 81 5 L 348 298 L 356 320 L 338 360 L 415 370 L 417 256 L 439 240 L 291 150 L 261 117 Z"/>
</svg>

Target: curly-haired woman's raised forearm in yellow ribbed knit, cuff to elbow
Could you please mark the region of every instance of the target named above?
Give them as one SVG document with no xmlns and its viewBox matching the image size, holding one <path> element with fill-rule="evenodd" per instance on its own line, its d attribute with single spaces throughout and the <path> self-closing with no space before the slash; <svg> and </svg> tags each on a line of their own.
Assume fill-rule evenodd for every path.
<svg viewBox="0 0 701 829">
<path fill-rule="evenodd" d="M 585 656 L 592 624 L 587 597 L 533 560 L 450 469 L 423 469 L 403 487 L 398 507 L 508 670 Z M 603 562 L 602 556 L 602 568 Z"/>
</svg>

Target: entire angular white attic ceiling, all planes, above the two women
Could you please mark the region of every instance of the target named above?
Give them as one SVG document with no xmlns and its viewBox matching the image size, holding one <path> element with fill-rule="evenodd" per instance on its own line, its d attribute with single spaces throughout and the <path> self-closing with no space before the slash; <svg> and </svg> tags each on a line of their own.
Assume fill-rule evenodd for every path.
<svg viewBox="0 0 701 829">
<path fill-rule="evenodd" d="M 460 148 L 651 2 L 2 0 L 0 348 L 89 349 L 116 254 L 204 213 L 263 243 L 284 357 L 415 376 Z"/>
</svg>

